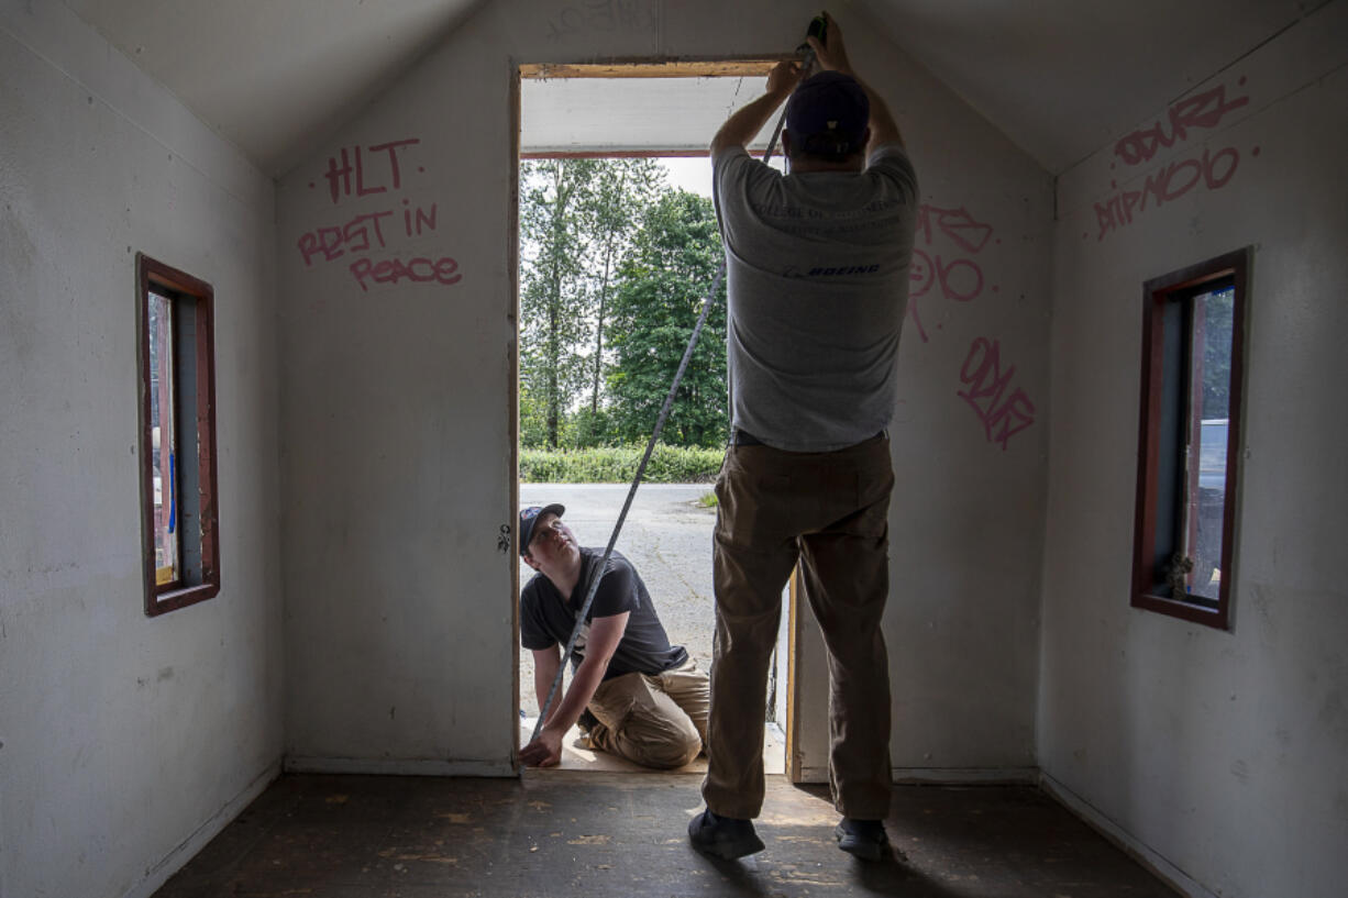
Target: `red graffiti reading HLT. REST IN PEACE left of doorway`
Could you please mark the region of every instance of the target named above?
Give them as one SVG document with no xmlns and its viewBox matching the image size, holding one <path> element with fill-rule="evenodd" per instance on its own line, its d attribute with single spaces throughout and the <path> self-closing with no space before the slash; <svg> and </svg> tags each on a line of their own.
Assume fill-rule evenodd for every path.
<svg viewBox="0 0 1348 898">
<path fill-rule="evenodd" d="M 328 181 L 328 191 L 333 204 L 345 198 L 360 198 L 376 194 L 388 194 L 403 187 L 403 152 L 419 144 L 421 140 L 410 138 L 406 140 L 391 140 L 388 143 L 372 144 L 368 147 L 342 147 L 338 155 L 329 156 L 328 170 L 324 178 Z M 417 169 L 425 173 L 423 167 Z M 315 182 L 309 186 L 317 187 Z M 438 209 L 431 204 L 430 209 L 412 206 L 411 200 L 402 200 L 402 209 L 380 209 L 352 217 L 350 220 L 324 228 L 315 228 L 301 235 L 298 241 L 299 255 L 305 260 L 305 267 L 311 268 L 314 262 L 333 262 L 342 256 L 349 258 L 348 270 L 360 285 L 361 291 L 369 290 L 371 283 L 399 283 L 410 280 L 412 283 L 442 283 L 454 285 L 462 279 L 458 263 L 441 256 L 430 259 L 418 256 L 403 260 L 371 259 L 361 253 L 376 249 L 386 249 L 390 239 L 421 237 L 426 232 L 435 231 Z M 399 235 L 399 220 L 400 231 Z"/>
</svg>

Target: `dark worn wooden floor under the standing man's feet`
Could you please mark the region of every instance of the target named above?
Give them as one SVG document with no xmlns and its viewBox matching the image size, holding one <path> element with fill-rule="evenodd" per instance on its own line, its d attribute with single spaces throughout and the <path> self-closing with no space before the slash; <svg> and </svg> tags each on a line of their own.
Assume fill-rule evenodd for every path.
<svg viewBox="0 0 1348 898">
<path fill-rule="evenodd" d="M 837 849 L 825 789 L 770 777 L 767 849 L 725 863 L 687 843 L 700 783 L 568 770 L 287 775 L 156 898 L 1174 898 L 1031 787 L 896 787 L 887 828 L 900 854 L 867 864 Z"/>
</svg>

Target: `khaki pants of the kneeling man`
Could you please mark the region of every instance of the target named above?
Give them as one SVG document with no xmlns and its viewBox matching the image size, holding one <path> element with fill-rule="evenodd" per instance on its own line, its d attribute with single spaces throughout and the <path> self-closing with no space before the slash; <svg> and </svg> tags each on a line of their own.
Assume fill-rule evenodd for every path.
<svg viewBox="0 0 1348 898">
<path fill-rule="evenodd" d="M 692 658 L 665 673 L 605 680 L 589 702 L 599 720 L 590 744 L 643 767 L 682 767 L 702 750 L 708 690 L 706 674 Z"/>
</svg>

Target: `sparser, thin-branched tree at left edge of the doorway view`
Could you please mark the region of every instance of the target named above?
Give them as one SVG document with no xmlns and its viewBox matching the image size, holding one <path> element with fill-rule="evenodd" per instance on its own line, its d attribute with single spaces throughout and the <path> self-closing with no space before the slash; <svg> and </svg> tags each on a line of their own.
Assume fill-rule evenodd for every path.
<svg viewBox="0 0 1348 898">
<path fill-rule="evenodd" d="M 584 386 L 590 235 L 580 213 L 593 159 L 520 166 L 520 421 L 526 445 L 557 448 L 562 418 Z M 539 426 L 541 425 L 541 426 Z M 538 440 L 539 442 L 534 442 Z"/>
</svg>

